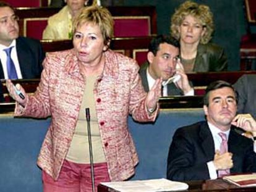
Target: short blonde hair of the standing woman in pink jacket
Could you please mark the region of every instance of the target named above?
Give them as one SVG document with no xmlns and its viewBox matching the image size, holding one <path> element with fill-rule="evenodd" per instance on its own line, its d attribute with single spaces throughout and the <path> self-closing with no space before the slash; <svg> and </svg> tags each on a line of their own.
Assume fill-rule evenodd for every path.
<svg viewBox="0 0 256 192">
<path fill-rule="evenodd" d="M 73 34 L 77 27 L 84 23 L 93 23 L 100 27 L 105 45 L 108 45 L 114 36 L 114 20 L 109 10 L 105 7 L 88 6 L 84 7 L 81 13 L 74 19 Z"/>
</svg>

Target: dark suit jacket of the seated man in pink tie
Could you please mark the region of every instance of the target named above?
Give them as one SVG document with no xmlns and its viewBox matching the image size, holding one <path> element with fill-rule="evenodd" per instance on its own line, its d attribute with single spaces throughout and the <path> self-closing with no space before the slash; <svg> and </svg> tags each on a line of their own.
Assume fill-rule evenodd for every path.
<svg viewBox="0 0 256 192">
<path fill-rule="evenodd" d="M 233 153 L 234 167 L 231 173 L 256 171 L 256 153 L 253 141 L 239 135 L 231 127 L 228 151 Z M 167 178 L 169 180 L 209 179 L 207 162 L 213 161 L 215 147 L 207 122 L 182 127 L 174 133 L 169 148 Z"/>
</svg>

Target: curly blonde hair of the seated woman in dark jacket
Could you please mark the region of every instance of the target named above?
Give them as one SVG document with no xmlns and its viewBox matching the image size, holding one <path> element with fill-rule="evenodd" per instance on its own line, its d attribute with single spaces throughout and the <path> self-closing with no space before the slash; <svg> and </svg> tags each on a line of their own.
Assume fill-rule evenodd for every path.
<svg viewBox="0 0 256 192">
<path fill-rule="evenodd" d="M 200 43 L 208 43 L 214 30 L 213 14 L 208 6 L 192 1 L 184 2 L 174 12 L 173 17 L 171 17 L 171 35 L 179 40 L 179 27 L 187 15 L 195 17 L 202 27 L 205 28 L 205 34 L 200 39 Z"/>
</svg>

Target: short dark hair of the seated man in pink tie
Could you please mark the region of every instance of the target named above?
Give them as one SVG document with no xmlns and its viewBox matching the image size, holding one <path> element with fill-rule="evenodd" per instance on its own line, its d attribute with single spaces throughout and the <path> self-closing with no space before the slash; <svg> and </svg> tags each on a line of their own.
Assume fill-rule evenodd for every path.
<svg viewBox="0 0 256 192">
<path fill-rule="evenodd" d="M 228 83 L 226 81 L 219 80 L 219 81 L 214 81 L 214 82 L 210 83 L 210 85 L 207 86 L 207 88 L 205 90 L 205 95 L 203 96 L 203 105 L 207 106 L 207 107 L 209 106 L 209 94 L 211 91 L 218 90 L 218 89 L 221 89 L 224 87 L 231 88 L 231 90 L 234 91 L 236 103 L 238 103 L 238 93 L 234 89 L 233 85 L 231 85 L 231 83 Z"/>
</svg>

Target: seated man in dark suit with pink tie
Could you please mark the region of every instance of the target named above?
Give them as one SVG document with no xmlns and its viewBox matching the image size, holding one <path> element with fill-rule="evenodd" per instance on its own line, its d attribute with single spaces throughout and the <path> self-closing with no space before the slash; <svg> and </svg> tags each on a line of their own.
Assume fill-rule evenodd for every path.
<svg viewBox="0 0 256 192">
<path fill-rule="evenodd" d="M 256 172 L 256 122 L 250 114 L 236 116 L 237 96 L 226 81 L 206 90 L 203 110 L 207 121 L 177 129 L 169 148 L 169 180 L 207 180 L 229 173 Z M 252 139 L 234 128 L 251 131 Z"/>
</svg>

